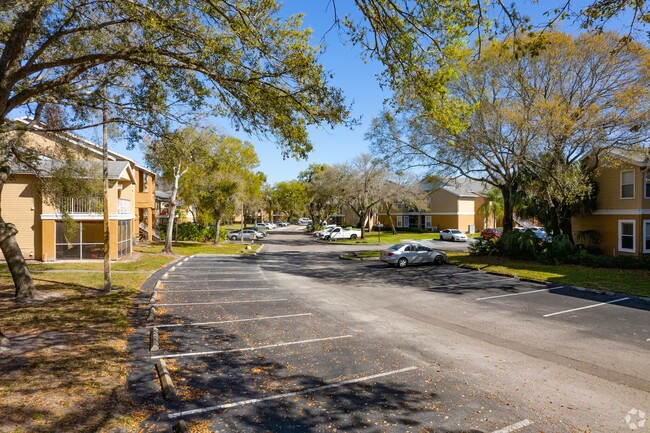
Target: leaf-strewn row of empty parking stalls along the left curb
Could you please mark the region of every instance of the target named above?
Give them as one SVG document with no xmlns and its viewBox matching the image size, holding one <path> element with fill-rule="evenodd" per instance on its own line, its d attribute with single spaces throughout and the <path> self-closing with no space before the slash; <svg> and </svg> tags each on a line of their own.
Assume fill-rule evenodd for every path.
<svg viewBox="0 0 650 433">
<path fill-rule="evenodd" d="M 171 424 L 210 431 L 497 431 L 471 387 L 264 284 L 250 260 L 195 257 L 160 280 L 156 327 L 178 397 Z M 485 413 L 490 416 L 486 417 Z M 164 417 L 162 417 L 164 418 Z M 161 418 L 161 419 L 162 419 Z M 159 427 L 160 424 L 157 425 Z M 430 430 L 423 430 L 430 429 Z"/>
</svg>

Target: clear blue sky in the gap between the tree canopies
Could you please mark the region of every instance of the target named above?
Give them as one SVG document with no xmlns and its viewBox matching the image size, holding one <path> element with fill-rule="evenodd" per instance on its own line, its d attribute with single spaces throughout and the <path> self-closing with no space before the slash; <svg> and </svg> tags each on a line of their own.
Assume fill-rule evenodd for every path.
<svg viewBox="0 0 650 433">
<path fill-rule="evenodd" d="M 521 1 L 521 0 L 520 0 Z M 558 1 L 542 0 L 532 4 L 529 0 L 521 1 L 521 7 L 534 20 L 544 19 L 543 12 L 546 7 L 557 6 Z M 574 7 L 586 3 L 585 0 L 572 2 Z M 347 12 L 357 13 L 350 0 L 337 1 L 339 16 Z M 312 44 L 324 44 L 325 51 L 320 57 L 324 68 L 334 74 L 331 81 L 336 87 L 343 90 L 348 104 L 352 104 L 352 116 L 360 119 L 359 125 L 354 129 L 346 127 L 311 128 L 310 137 L 314 150 L 307 160 L 282 158 L 276 144 L 270 140 L 251 137 L 242 132 L 235 131 L 229 121 L 224 119 L 214 120 L 214 126 L 222 128 L 225 132 L 242 140 L 251 141 L 255 145 L 260 159 L 259 171 L 267 176 L 269 184 L 283 180 L 295 179 L 311 163 L 337 164 L 352 160 L 361 153 L 369 152 L 368 142 L 364 140 L 373 116 L 376 116 L 383 107 L 384 99 L 390 96 L 388 91 L 382 91 L 377 83 L 376 74 L 382 68 L 376 62 L 365 63 L 361 50 L 350 44 L 345 44 L 345 35 L 337 28 L 331 28 L 334 12 L 330 0 L 285 0 L 282 13 L 289 15 L 302 12 L 304 25 L 313 30 Z M 575 31 L 577 26 L 570 26 L 564 30 Z M 100 142 L 99 137 L 92 140 Z M 123 145 L 115 143 L 111 148 L 125 154 L 138 162 L 142 156 L 139 149 L 128 151 Z"/>
</svg>

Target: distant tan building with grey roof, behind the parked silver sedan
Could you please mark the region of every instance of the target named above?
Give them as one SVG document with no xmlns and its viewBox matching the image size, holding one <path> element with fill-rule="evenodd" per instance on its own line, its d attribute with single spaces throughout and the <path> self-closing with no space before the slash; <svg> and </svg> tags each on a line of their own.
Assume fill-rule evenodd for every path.
<svg viewBox="0 0 650 433">
<path fill-rule="evenodd" d="M 390 212 L 396 228 L 426 231 L 457 228 L 463 232 L 485 228 L 485 216 L 480 211 L 485 202 L 485 187 L 481 183 L 461 178 L 441 185 L 423 182 L 422 187 L 427 192 L 426 208 L 418 210 L 396 203 Z M 390 224 L 385 209 L 379 213 L 379 221 Z"/>
</svg>

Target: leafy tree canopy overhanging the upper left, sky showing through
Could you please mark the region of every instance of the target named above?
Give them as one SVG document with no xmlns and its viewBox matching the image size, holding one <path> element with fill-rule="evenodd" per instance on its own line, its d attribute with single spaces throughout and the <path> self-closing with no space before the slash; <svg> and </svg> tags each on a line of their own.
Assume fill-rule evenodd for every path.
<svg viewBox="0 0 650 433">
<path fill-rule="evenodd" d="M 87 127 L 106 94 L 113 120 L 159 130 L 209 105 L 237 128 L 311 149 L 308 125 L 344 122 L 341 92 L 301 17 L 264 1 L 31 0 L 0 4 L 0 126 L 19 108 L 71 110 Z"/>
</svg>

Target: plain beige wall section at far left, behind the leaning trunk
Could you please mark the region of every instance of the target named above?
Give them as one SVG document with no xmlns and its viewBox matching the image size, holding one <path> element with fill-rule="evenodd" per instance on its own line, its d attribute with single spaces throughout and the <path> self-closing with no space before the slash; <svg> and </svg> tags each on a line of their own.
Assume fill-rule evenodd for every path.
<svg viewBox="0 0 650 433">
<path fill-rule="evenodd" d="M 26 259 L 40 260 L 41 243 L 41 199 L 38 195 L 36 177 L 15 175 L 9 178 L 2 190 L 0 204 L 2 218 L 16 226 L 16 242 Z M 0 258 L 2 252 L 0 252 Z"/>
</svg>

